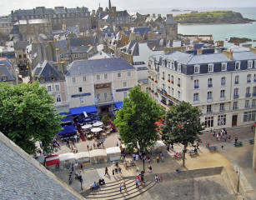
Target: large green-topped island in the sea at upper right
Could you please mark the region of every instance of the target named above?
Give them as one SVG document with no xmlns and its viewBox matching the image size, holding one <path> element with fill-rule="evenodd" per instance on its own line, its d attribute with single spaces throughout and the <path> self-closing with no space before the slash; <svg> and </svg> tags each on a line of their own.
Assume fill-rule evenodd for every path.
<svg viewBox="0 0 256 200">
<path fill-rule="evenodd" d="M 180 14 L 173 17 L 177 23 L 252 23 L 253 19 L 243 18 L 241 13 L 233 11 L 212 11 L 201 13 Z"/>
</svg>

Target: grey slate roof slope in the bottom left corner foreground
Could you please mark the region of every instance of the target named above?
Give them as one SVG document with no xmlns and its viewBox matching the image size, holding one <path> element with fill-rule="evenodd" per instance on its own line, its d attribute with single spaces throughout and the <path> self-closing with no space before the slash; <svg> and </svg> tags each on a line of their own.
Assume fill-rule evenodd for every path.
<svg viewBox="0 0 256 200">
<path fill-rule="evenodd" d="M 0 151 L 1 199 L 84 199 L 3 133 Z"/>
</svg>

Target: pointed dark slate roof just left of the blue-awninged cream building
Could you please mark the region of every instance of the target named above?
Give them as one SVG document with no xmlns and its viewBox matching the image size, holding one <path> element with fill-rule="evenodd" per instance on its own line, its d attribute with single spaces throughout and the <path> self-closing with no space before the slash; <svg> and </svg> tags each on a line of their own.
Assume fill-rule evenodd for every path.
<svg viewBox="0 0 256 200">
<path fill-rule="evenodd" d="M 40 71 L 40 72 L 39 72 Z M 35 73 L 38 73 L 38 78 L 43 76 L 45 79 L 45 82 L 51 82 L 51 76 L 55 77 L 54 82 L 59 82 L 59 81 L 64 81 L 65 78 L 61 76 L 61 74 L 53 67 L 53 65 L 48 62 L 48 61 L 44 61 L 42 66 L 41 66 L 41 70 L 38 69 L 35 71 Z"/>
</svg>

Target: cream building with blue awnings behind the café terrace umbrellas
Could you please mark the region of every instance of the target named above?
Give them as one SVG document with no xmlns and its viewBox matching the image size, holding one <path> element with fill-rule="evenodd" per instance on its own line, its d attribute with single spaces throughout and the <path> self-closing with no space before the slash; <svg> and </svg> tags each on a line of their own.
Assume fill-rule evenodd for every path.
<svg viewBox="0 0 256 200">
<path fill-rule="evenodd" d="M 69 107 L 76 108 L 71 114 L 110 112 L 138 81 L 136 69 L 121 57 L 74 61 L 65 77 Z"/>
</svg>

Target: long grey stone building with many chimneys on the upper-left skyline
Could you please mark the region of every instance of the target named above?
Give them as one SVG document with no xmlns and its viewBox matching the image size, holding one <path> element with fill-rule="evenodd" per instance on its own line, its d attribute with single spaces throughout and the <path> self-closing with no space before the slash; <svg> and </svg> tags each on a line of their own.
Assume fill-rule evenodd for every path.
<svg viewBox="0 0 256 200">
<path fill-rule="evenodd" d="M 48 19 L 52 24 L 53 30 L 62 30 L 63 24 L 67 27 L 79 26 L 80 32 L 91 30 L 90 12 L 88 7 L 36 7 L 26 10 L 15 10 L 11 13 L 12 22 L 16 23 L 19 20 L 30 19 Z"/>
</svg>

